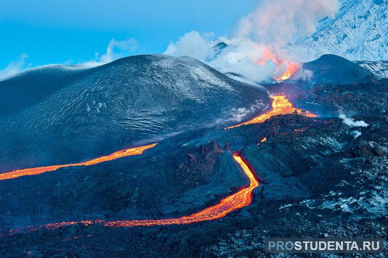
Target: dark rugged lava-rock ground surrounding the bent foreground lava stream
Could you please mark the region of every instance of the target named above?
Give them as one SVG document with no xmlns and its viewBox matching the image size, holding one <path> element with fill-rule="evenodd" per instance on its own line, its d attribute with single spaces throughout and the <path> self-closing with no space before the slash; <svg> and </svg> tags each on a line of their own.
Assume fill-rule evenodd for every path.
<svg viewBox="0 0 388 258">
<path fill-rule="evenodd" d="M 227 130 L 195 128 L 161 139 L 142 155 L 0 181 L 0 256 L 265 257 L 264 238 L 282 236 L 381 237 L 385 252 L 370 256 L 385 257 L 388 80 L 366 74 L 340 83 L 314 73 L 320 81 L 264 86 L 317 118 L 287 114 Z M 131 228 L 75 224 L 9 234 L 59 221 L 192 214 L 248 184 L 232 159 L 238 150 L 261 185 L 249 206 L 224 218 Z"/>
</svg>

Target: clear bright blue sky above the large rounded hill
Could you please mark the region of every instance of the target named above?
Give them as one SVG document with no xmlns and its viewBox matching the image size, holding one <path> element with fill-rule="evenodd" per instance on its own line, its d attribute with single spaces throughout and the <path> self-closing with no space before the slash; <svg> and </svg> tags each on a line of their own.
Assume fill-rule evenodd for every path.
<svg viewBox="0 0 388 258">
<path fill-rule="evenodd" d="M 162 53 L 197 30 L 226 35 L 258 0 L 0 0 L 0 70 L 23 54 L 31 66 L 79 63 L 111 39 L 134 39 L 132 54 Z"/>
</svg>

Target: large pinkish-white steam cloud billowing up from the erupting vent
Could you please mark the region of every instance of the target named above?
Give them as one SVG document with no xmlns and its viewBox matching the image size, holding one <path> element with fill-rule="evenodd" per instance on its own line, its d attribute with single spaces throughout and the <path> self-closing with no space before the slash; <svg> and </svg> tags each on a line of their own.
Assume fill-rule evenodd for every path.
<svg viewBox="0 0 388 258">
<path fill-rule="evenodd" d="M 228 37 L 191 31 L 167 47 L 165 54 L 188 55 L 221 71 L 238 72 L 256 81 L 281 76 L 297 64 L 284 46 L 310 36 L 317 22 L 334 17 L 338 0 L 264 0 L 242 18 Z M 222 45 L 224 43 L 226 45 Z"/>
</svg>

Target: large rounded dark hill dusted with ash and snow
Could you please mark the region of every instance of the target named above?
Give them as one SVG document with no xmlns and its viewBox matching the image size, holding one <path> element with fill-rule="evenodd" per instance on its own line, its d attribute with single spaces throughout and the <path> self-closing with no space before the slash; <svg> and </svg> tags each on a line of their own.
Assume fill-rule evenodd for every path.
<svg viewBox="0 0 388 258">
<path fill-rule="evenodd" d="M 196 59 L 166 55 L 88 69 L 45 66 L 0 81 L 0 89 L 0 171 L 80 161 L 219 121 L 232 124 L 247 113 L 241 110 L 253 113 L 268 100 L 262 88 Z"/>
</svg>

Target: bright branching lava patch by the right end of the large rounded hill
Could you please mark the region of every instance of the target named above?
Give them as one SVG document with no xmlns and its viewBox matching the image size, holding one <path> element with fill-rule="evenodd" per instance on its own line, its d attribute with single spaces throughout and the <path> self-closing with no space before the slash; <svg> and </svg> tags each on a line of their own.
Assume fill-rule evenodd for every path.
<svg viewBox="0 0 388 258">
<path fill-rule="evenodd" d="M 238 124 L 238 125 L 230 126 L 227 129 L 233 128 L 233 127 L 237 127 L 237 126 L 241 126 L 241 125 L 263 123 L 264 121 L 266 121 L 267 119 L 271 118 L 272 116 L 292 114 L 292 113 L 295 113 L 295 111 L 298 114 L 301 114 L 301 115 L 304 115 L 304 116 L 317 117 L 317 115 L 315 115 L 315 114 L 313 114 L 313 113 L 311 113 L 309 111 L 306 111 L 306 112 L 302 113 L 301 109 L 294 108 L 292 106 L 292 103 L 289 102 L 286 99 L 286 96 L 271 96 L 270 98 L 274 99 L 274 101 L 272 102 L 272 108 L 273 109 L 271 111 L 269 111 L 269 112 L 267 112 L 267 113 L 265 113 L 263 115 L 257 116 L 255 118 L 252 118 L 251 120 L 249 120 L 247 122 L 244 122 L 244 123 L 241 123 L 241 124 Z"/>
</svg>

